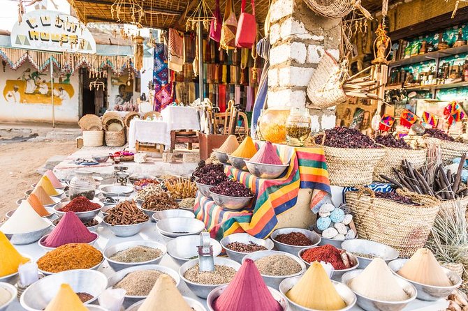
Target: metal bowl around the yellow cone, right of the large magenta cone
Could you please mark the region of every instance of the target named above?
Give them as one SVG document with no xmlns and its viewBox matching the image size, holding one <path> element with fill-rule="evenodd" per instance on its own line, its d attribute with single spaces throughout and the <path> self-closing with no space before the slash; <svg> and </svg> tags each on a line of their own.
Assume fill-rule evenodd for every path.
<svg viewBox="0 0 468 311">
<path fill-rule="evenodd" d="M 286 296 L 286 293 L 291 288 L 293 288 L 293 286 L 296 285 L 301 278 L 302 276 L 295 276 L 293 278 L 287 278 L 283 280 L 283 282 L 281 282 L 281 284 L 279 285 L 279 291 L 288 300 L 291 310 L 293 311 L 317 311 L 314 309 L 302 307 L 302 305 L 298 305 L 294 301 L 291 301 L 288 298 L 288 296 Z M 345 308 L 339 309 L 337 311 L 345 311 L 345 310 L 350 310 L 351 308 L 353 308 L 353 306 L 356 304 L 356 295 L 353 293 L 353 291 L 351 291 L 351 289 L 349 289 L 349 287 L 347 287 L 346 285 L 340 282 L 334 281 L 334 280 L 332 280 L 332 285 L 333 287 L 335 287 L 335 289 L 338 292 L 338 295 L 343 299 L 344 303 L 346 303 Z M 388 309 L 388 310 L 391 310 L 391 309 Z"/>
</svg>

